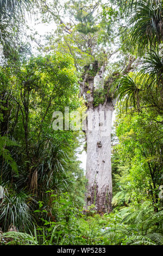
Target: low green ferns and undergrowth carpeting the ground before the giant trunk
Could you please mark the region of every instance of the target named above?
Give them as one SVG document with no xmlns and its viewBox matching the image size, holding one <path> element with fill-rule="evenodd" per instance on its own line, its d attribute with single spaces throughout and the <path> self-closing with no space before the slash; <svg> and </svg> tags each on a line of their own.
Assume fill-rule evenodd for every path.
<svg viewBox="0 0 163 256">
<path fill-rule="evenodd" d="M 67 207 L 70 209 L 63 197 L 60 202 L 65 206 L 63 211 Z M 42 206 L 40 212 L 41 208 Z M 150 202 L 142 204 L 139 210 L 132 207 L 123 208 L 119 212 L 104 216 L 86 217 L 72 210 L 76 215 L 71 214 L 68 221 L 65 216 L 62 216 L 59 222 L 43 220 L 44 227 L 34 228 L 34 235 L 14 231 L 2 233 L 1 244 L 162 245 L 162 211 L 154 213 Z"/>
</svg>

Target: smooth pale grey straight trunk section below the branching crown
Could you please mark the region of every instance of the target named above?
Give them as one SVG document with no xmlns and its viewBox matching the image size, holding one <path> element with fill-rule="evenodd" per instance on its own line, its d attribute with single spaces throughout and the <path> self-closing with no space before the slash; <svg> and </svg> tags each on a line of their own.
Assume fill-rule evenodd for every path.
<svg viewBox="0 0 163 256">
<path fill-rule="evenodd" d="M 98 212 L 111 211 L 111 102 L 89 108 L 87 115 L 87 205 L 95 204 Z M 99 129 L 98 129 L 99 128 Z"/>
</svg>

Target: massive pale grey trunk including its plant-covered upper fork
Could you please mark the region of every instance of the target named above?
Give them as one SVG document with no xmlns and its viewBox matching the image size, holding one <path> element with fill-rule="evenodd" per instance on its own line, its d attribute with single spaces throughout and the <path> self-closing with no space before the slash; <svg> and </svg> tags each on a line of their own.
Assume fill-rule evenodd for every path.
<svg viewBox="0 0 163 256">
<path fill-rule="evenodd" d="M 86 205 L 95 204 L 98 212 L 111 211 L 111 118 L 114 110 L 112 99 L 105 90 L 103 102 L 95 105 L 95 95 L 104 90 L 105 64 L 98 62 L 85 67 L 82 95 L 87 106 L 86 139 L 88 180 Z"/>
</svg>

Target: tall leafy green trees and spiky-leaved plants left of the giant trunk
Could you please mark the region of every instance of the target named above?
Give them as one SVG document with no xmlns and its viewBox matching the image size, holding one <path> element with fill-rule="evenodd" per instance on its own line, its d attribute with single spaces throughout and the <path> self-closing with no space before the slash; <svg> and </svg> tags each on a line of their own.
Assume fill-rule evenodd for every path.
<svg viewBox="0 0 163 256">
<path fill-rule="evenodd" d="M 70 191 L 74 204 L 84 202 L 85 178 L 76 157 L 82 135 L 52 129 L 54 111 L 80 107 L 77 77 L 72 58 L 58 52 L 32 57 L 18 70 L 3 66 L 1 71 L 0 133 L 7 132 L 0 137 L 1 182 L 8 184 L 9 193 L 1 202 L 0 222 L 3 231 L 12 224 L 29 232 L 36 204 L 31 198 L 28 203 L 24 188 L 35 199 L 45 200 L 47 208 L 51 208 L 47 190 L 57 195 Z"/>
</svg>

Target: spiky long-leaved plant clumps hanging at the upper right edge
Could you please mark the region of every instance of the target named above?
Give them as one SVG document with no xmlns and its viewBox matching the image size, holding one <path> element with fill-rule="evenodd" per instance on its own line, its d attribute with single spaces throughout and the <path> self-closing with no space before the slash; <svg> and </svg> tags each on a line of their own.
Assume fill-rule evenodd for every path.
<svg viewBox="0 0 163 256">
<path fill-rule="evenodd" d="M 112 90 L 121 103 L 133 104 L 139 110 L 145 104 L 156 113 L 163 111 L 163 4 L 162 1 L 136 1 L 131 9 L 130 42 L 141 51 L 148 49 L 136 75 L 123 75 Z M 160 49 L 161 47 L 161 49 Z"/>
</svg>

